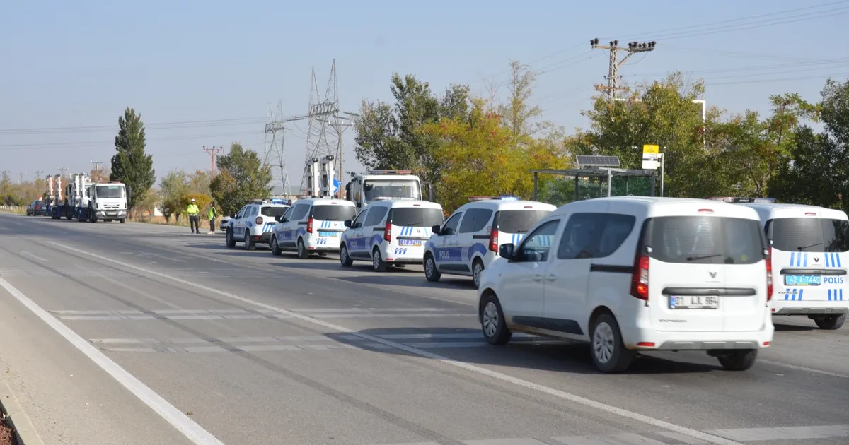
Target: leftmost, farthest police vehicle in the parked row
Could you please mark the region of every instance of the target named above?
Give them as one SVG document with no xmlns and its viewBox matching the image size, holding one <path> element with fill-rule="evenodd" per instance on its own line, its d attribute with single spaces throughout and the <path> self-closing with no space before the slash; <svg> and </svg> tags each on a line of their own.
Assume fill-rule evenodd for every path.
<svg viewBox="0 0 849 445">
<path fill-rule="evenodd" d="M 235 248 L 236 242 L 245 243 L 246 250 L 254 250 L 256 244 L 268 244 L 278 216 L 289 209 L 283 199 L 256 199 L 245 205 L 237 214 L 230 216 L 224 232 L 227 247 Z"/>
</svg>

